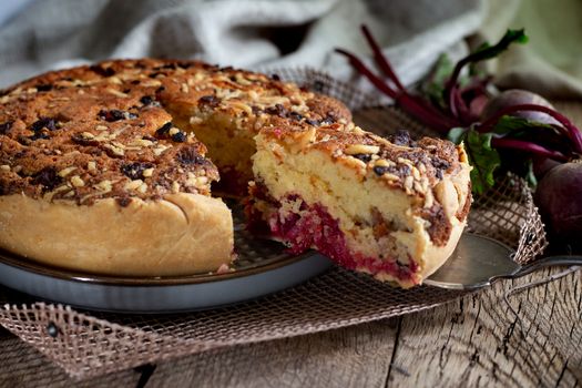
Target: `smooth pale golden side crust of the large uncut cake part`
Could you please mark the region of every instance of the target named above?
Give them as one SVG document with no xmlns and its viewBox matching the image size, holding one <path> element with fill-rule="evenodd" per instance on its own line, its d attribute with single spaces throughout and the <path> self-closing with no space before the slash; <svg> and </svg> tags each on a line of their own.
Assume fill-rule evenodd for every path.
<svg viewBox="0 0 582 388">
<path fill-rule="evenodd" d="M 216 270 L 232 261 L 231 212 L 221 200 L 169 194 L 93 205 L 0 196 L 0 246 L 52 266 L 127 276 Z"/>
</svg>

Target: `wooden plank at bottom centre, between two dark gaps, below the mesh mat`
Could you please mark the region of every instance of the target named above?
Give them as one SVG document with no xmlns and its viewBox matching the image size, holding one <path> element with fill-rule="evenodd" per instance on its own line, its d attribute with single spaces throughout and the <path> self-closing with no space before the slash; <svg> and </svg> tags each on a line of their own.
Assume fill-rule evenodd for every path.
<svg viewBox="0 0 582 388">
<path fill-rule="evenodd" d="M 194 355 L 152 387 L 385 387 L 398 319 Z"/>
</svg>

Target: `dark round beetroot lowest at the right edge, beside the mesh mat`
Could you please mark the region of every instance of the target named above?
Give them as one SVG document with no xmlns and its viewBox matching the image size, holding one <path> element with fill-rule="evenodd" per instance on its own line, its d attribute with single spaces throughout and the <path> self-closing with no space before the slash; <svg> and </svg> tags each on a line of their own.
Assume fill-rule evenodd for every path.
<svg viewBox="0 0 582 388">
<path fill-rule="evenodd" d="M 534 196 L 553 241 L 582 248 L 582 161 L 560 164 L 540 181 Z"/>
</svg>

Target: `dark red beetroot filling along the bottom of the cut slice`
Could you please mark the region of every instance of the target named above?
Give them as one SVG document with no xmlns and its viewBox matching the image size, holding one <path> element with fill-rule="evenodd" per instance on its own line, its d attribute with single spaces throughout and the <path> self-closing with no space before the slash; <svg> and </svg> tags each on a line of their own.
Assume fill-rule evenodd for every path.
<svg viewBox="0 0 582 388">
<path fill-rule="evenodd" d="M 299 200 L 298 195 L 288 195 L 284 201 L 294 202 L 297 200 Z M 280 203 L 273 205 L 280 208 Z M 386 262 L 366 257 L 359 253 L 350 253 L 345 235 L 339 229 L 339 221 L 331 217 L 321 204 L 308 206 L 302 201 L 299 211 L 300 215 L 293 213 L 284 219 L 277 212 L 268 219 L 272 234 L 285 242 L 293 254 L 299 254 L 315 247 L 345 268 L 364 267 L 371 274 L 385 272 L 400 280 L 411 280 L 412 274 L 417 272 L 418 265 L 411 261 L 409 265 L 402 265 L 396 261 Z"/>
</svg>

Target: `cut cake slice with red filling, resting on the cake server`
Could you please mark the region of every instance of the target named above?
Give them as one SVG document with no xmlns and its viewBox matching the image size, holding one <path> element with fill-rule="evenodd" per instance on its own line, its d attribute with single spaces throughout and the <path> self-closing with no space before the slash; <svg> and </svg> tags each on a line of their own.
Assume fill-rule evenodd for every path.
<svg viewBox="0 0 582 388">
<path fill-rule="evenodd" d="M 315 248 L 411 287 L 455 249 L 471 202 L 462 146 L 354 124 L 270 127 L 255 140 L 247 213 L 292 252 Z"/>
</svg>

